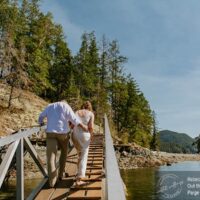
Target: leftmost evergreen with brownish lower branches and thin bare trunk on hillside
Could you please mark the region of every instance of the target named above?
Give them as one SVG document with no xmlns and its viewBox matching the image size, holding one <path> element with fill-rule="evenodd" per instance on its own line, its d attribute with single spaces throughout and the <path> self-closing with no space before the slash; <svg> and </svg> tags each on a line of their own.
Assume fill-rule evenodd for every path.
<svg viewBox="0 0 200 200">
<path fill-rule="evenodd" d="M 14 87 L 24 88 L 28 78 L 24 69 L 24 44 L 22 40 L 17 40 L 21 33 L 19 26 L 20 16 L 17 8 L 17 1 L 11 1 L 10 5 L 7 1 L 3 4 L 3 9 L 0 9 L 1 18 L 1 74 L 6 71 L 3 77 L 11 86 L 8 107 L 11 106 Z M 5 15 L 5 16 L 4 16 Z"/>
</svg>

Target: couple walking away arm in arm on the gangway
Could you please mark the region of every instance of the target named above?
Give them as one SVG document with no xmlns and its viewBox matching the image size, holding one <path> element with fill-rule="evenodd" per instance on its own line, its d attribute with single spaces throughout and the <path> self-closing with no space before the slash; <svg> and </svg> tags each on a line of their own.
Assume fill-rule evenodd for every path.
<svg viewBox="0 0 200 200">
<path fill-rule="evenodd" d="M 94 114 L 92 105 L 86 101 L 81 109 L 73 112 L 66 101 L 49 104 L 40 114 L 38 122 L 43 124 L 47 118 L 47 168 L 49 186 L 54 187 L 57 179 L 62 180 L 65 172 L 65 163 L 68 152 L 69 132 L 73 129 L 72 141 L 78 153 L 77 175 L 75 185 L 85 184 L 85 177 L 89 144 L 93 134 Z M 59 170 L 56 167 L 56 154 L 58 147 L 61 150 Z"/>
</svg>

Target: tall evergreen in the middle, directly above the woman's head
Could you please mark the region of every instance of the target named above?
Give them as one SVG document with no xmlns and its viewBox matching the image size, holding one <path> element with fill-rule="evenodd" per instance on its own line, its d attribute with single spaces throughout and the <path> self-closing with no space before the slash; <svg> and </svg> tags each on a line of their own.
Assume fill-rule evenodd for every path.
<svg viewBox="0 0 200 200">
<path fill-rule="evenodd" d="M 96 96 L 98 83 L 98 49 L 94 32 L 82 35 L 81 48 L 74 58 L 76 83 L 83 99 Z"/>
</svg>

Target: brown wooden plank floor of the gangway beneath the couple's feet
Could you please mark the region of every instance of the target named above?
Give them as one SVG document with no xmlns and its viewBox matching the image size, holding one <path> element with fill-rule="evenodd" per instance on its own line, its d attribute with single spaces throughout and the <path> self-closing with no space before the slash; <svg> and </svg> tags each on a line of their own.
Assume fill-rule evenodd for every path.
<svg viewBox="0 0 200 200">
<path fill-rule="evenodd" d="M 77 154 L 75 148 L 67 157 L 65 172 L 69 177 L 63 178 L 56 183 L 54 188 L 45 185 L 36 196 L 36 200 L 103 200 L 104 199 L 104 138 L 102 134 L 94 135 L 90 144 L 88 163 L 86 170 L 87 182 L 84 186 L 74 187 L 75 174 L 77 170 Z"/>
</svg>

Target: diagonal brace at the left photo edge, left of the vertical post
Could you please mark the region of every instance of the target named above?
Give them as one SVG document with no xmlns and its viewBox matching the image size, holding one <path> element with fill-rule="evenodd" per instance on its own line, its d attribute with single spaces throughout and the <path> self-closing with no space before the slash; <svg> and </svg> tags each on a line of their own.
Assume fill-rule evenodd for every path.
<svg viewBox="0 0 200 200">
<path fill-rule="evenodd" d="M 19 144 L 19 140 L 15 141 L 14 143 L 10 144 L 5 156 L 3 157 L 3 161 L 0 165 L 0 188 L 6 176 L 6 173 L 9 169 L 10 163 L 12 162 L 13 156 Z"/>
</svg>

